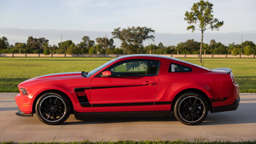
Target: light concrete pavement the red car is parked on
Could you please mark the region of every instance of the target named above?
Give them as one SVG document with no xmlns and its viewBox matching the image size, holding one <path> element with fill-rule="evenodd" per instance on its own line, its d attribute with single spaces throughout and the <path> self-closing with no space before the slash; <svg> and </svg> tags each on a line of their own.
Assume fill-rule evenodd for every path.
<svg viewBox="0 0 256 144">
<path fill-rule="evenodd" d="M 86 118 L 70 115 L 59 126 L 43 124 L 36 115 L 17 116 L 16 93 L 0 93 L 0 141 L 50 142 L 106 140 L 256 140 L 256 94 L 240 94 L 235 111 L 209 113 L 198 126 L 171 117 Z"/>
</svg>

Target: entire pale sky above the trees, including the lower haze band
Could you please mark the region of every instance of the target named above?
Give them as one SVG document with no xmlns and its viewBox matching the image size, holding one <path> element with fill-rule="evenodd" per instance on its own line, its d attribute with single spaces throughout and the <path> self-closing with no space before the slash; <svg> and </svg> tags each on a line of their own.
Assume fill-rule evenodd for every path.
<svg viewBox="0 0 256 144">
<path fill-rule="evenodd" d="M 186 30 L 188 24 L 184 20 L 185 12 L 198 1 L 0 0 L 0 36 L 6 36 L 13 44 L 26 42 L 27 37 L 33 34 L 57 44 L 61 33 L 64 33 L 63 40 L 79 42 L 83 35 L 92 36 L 91 39 L 105 34 L 111 37 L 114 28 L 146 26 L 156 31 L 156 41 L 164 41 L 164 45 L 174 45 L 181 42 L 178 40 L 186 41 L 190 37 L 200 41 L 198 32 Z M 224 44 L 238 43 L 244 35 L 244 40 L 256 43 L 256 0 L 209 2 L 214 4 L 214 17 L 223 20 L 224 25 L 219 31 L 206 31 L 206 42 L 219 39 Z M 118 40 L 115 42 L 116 45 L 120 43 Z"/>
</svg>

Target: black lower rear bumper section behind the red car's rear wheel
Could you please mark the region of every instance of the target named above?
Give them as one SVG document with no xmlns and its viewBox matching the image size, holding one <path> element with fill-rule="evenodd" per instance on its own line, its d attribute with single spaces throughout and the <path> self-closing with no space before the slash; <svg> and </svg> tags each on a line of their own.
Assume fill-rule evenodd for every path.
<svg viewBox="0 0 256 144">
<path fill-rule="evenodd" d="M 236 100 L 230 105 L 212 107 L 211 113 L 236 110 L 239 106 L 239 102 L 240 102 L 240 97 L 236 98 Z"/>
</svg>

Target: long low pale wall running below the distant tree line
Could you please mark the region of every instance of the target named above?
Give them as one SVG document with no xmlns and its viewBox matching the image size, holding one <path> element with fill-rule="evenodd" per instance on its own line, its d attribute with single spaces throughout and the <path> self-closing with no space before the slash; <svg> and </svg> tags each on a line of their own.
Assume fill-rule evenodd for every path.
<svg viewBox="0 0 256 144">
<path fill-rule="evenodd" d="M 0 54 L 0 57 L 119 57 L 126 54 Z M 161 56 L 170 56 L 174 58 L 199 58 L 199 54 L 159 54 Z M 236 55 L 232 56 L 231 54 L 205 54 L 206 58 L 255 58 L 255 54 L 250 56 Z M 202 54 L 204 58 L 204 54 Z"/>
</svg>

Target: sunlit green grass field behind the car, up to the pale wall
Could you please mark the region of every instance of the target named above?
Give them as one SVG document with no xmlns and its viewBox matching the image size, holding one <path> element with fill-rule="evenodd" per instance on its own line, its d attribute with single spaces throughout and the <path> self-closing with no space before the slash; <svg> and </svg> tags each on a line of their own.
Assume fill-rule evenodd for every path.
<svg viewBox="0 0 256 144">
<path fill-rule="evenodd" d="M 0 58 L 0 92 L 18 92 L 29 78 L 59 72 L 90 71 L 112 58 Z M 181 58 L 199 64 L 198 58 Z M 205 58 L 204 67 L 232 69 L 240 92 L 256 92 L 256 58 Z"/>
</svg>

